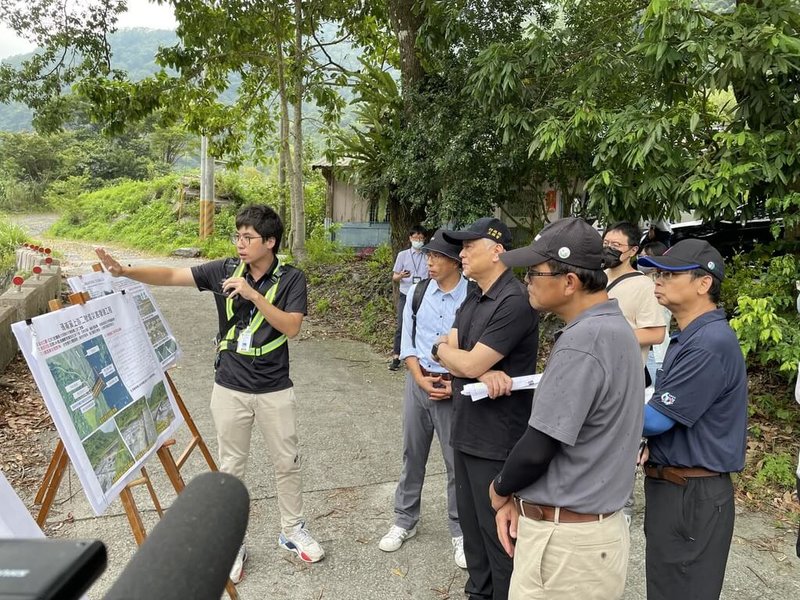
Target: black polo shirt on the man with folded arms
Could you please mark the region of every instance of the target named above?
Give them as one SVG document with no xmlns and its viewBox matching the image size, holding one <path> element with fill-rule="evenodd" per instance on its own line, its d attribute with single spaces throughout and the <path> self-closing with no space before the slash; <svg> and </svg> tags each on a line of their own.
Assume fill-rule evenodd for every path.
<svg viewBox="0 0 800 600">
<path fill-rule="evenodd" d="M 510 269 L 485 294 L 477 287 L 467 294 L 453 327 L 458 330 L 461 350 L 472 350 L 480 342 L 503 355 L 492 369 L 510 377 L 536 371 L 539 314 L 528 302 L 527 288 Z M 505 460 L 528 426 L 533 390 L 473 402 L 461 390 L 476 381 L 453 379 L 450 444 L 466 454 Z"/>
</svg>

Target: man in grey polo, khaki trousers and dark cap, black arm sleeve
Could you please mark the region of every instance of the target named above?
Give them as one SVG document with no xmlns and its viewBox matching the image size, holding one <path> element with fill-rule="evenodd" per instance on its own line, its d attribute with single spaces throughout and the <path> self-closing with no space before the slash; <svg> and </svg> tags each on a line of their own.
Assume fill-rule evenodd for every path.
<svg viewBox="0 0 800 600">
<path fill-rule="evenodd" d="M 596 231 L 568 218 L 501 255 L 510 267 L 532 266 L 531 305 L 566 322 L 528 428 L 489 486 L 498 537 L 514 557 L 512 600 L 611 600 L 625 588 L 630 538 L 620 511 L 633 486 L 644 372 L 606 294 L 602 251 Z"/>
</svg>

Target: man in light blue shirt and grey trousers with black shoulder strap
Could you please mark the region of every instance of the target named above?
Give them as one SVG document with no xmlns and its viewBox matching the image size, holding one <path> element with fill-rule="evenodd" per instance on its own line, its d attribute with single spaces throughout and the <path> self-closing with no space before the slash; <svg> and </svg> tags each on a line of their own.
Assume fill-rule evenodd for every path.
<svg viewBox="0 0 800 600">
<path fill-rule="evenodd" d="M 425 465 L 435 431 L 447 469 L 447 513 L 453 558 L 465 569 L 450 446 L 453 417 L 450 374 L 431 357 L 430 349 L 450 331 L 456 310 L 467 295 L 467 280 L 461 276 L 458 256 L 461 246 L 445 241 L 441 231 L 433 235 L 423 252 L 430 279 L 411 286 L 403 309 L 400 358 L 405 360 L 407 370 L 403 395 L 403 471 L 395 492 L 395 522 L 379 547 L 394 552 L 417 533 Z"/>
</svg>

